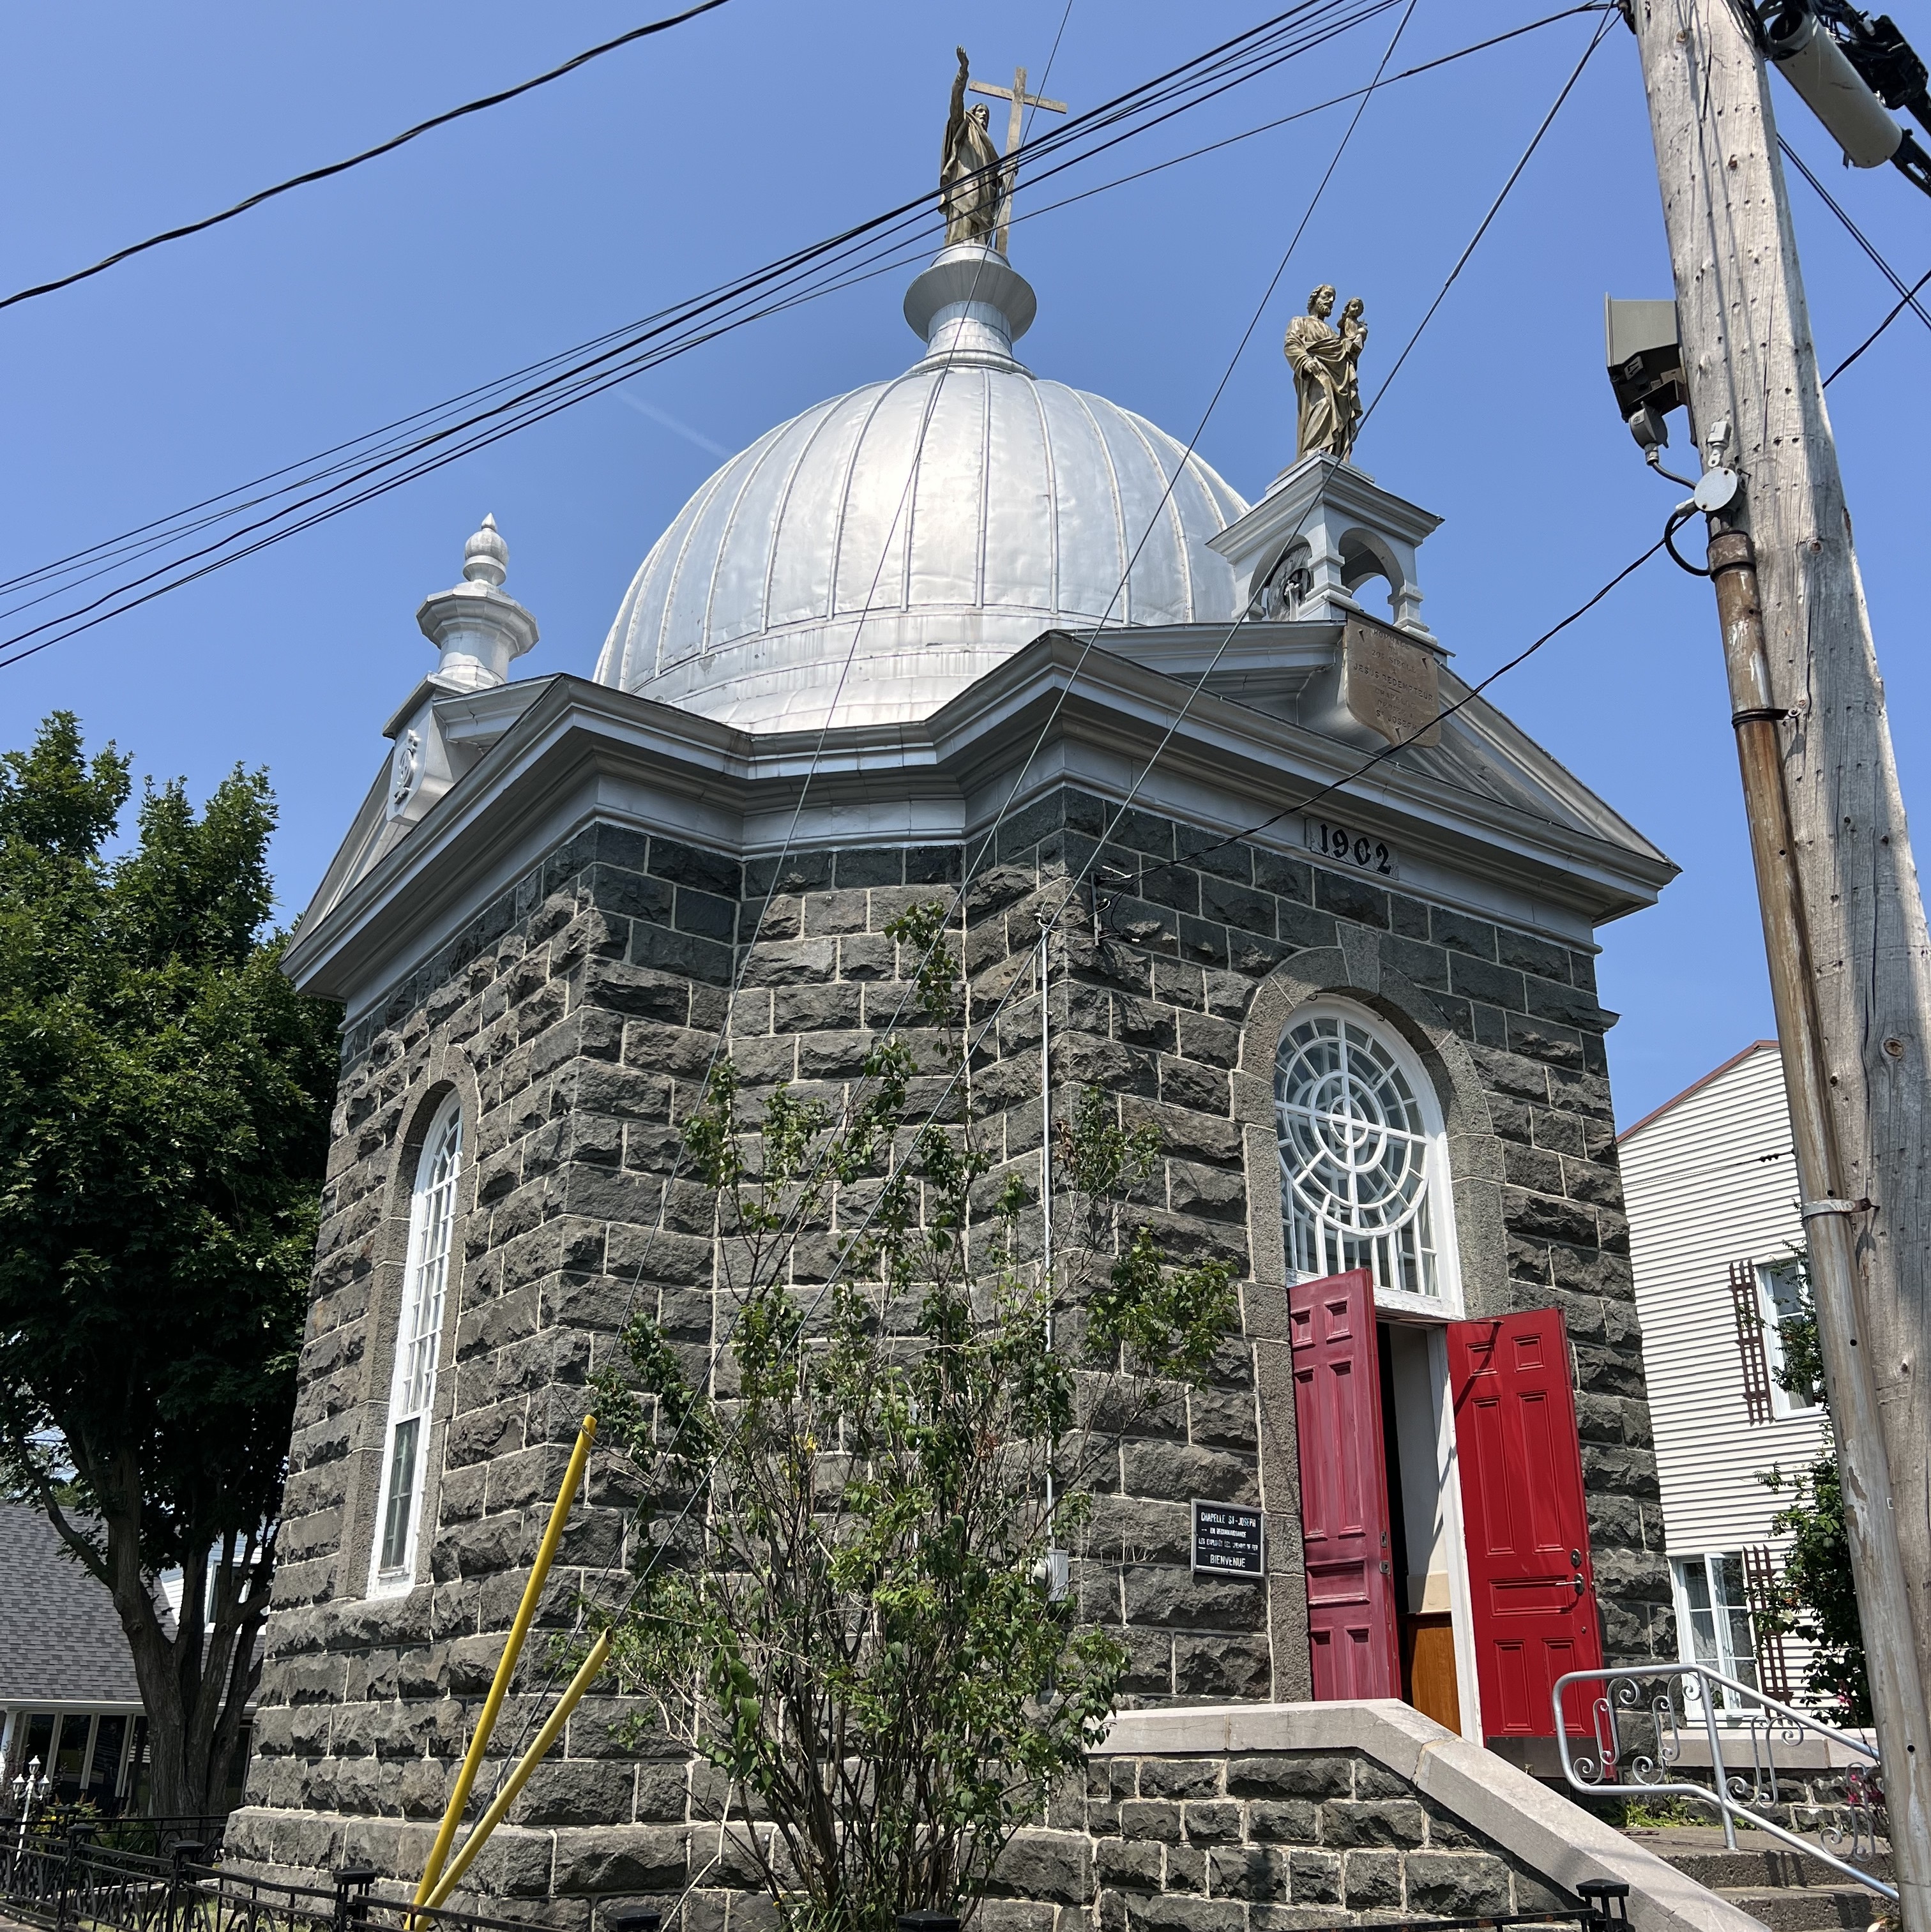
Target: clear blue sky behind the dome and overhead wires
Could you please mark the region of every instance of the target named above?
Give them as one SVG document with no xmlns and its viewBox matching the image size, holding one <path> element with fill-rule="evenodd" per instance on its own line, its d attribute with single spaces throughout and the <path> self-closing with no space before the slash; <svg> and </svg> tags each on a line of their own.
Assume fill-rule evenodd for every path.
<svg viewBox="0 0 1931 1932">
<path fill-rule="evenodd" d="M 1396 66 L 1552 12 L 1419 0 Z M 6 21 L 6 288 L 77 267 L 394 133 L 636 25 L 655 0 L 317 8 L 97 0 Z M 937 160 L 953 46 L 1052 64 L 1090 106 L 1262 17 L 1220 0 L 731 0 L 539 95 L 476 116 L 215 234 L 0 313 L 8 462 L 0 574 L 307 456 L 908 199 Z M 1898 0 L 1931 50 L 1931 8 Z M 1396 15 L 1117 149 L 1063 191 L 1359 85 Z M 1440 288 L 1595 17 L 1378 97 L 1218 408 L 1202 412 L 1328 164 L 1347 110 L 1044 213 L 1015 232 L 1040 319 L 1026 361 L 1187 439 L 1258 495 L 1293 444 L 1280 334 L 1316 280 L 1367 301 L 1374 388 Z M 1784 131 L 1906 278 L 1923 201 L 1846 174 L 1801 106 Z M 1821 352 L 1890 307 L 1801 182 Z M 620 392 L 0 672 L 4 740 L 56 705 L 137 769 L 205 792 L 267 765 L 284 910 L 302 908 L 373 777 L 383 721 L 429 667 L 414 611 L 456 582 L 485 510 L 543 641 L 524 674 L 588 672 L 624 585 L 723 450 L 903 367 L 901 278 L 744 328 Z M 1657 533 L 1651 477 L 1602 377 L 1604 290 L 1668 294 L 1631 37 L 1616 25 L 1357 452 L 1446 522 L 1427 616 L 1479 676 Z M 1931 674 L 1910 616 L 1923 553 L 1931 342 L 1912 317 L 1830 392 L 1906 802 Z M 1496 701 L 1684 875 L 1602 933 L 1624 1121 L 1771 1032 L 1709 589 L 1651 564 L 1513 672 Z"/>
</svg>

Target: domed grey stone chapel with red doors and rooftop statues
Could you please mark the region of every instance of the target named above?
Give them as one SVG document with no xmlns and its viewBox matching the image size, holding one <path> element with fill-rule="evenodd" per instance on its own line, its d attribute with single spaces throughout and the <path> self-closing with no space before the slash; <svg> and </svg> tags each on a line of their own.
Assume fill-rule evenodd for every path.
<svg viewBox="0 0 1931 1932">
<path fill-rule="evenodd" d="M 1297 454 L 1249 502 L 1019 359 L 1017 156 L 963 89 L 945 153 L 908 365 L 640 531 L 593 667 L 510 676 L 537 624 L 485 522 L 418 612 L 431 668 L 398 647 L 369 694 L 392 752 L 286 954 L 344 1007 L 342 1086 L 230 1859 L 421 1870 L 586 1364 L 632 1291 L 700 1352 L 729 1325 L 702 1235 L 646 1244 L 719 1036 L 837 1090 L 920 898 L 974 997 L 1063 908 L 1053 1107 L 1098 1086 L 1158 1122 L 1166 1238 L 1237 1267 L 1222 1378 L 1071 1551 L 1135 1696 L 1407 1696 L 1533 1758 L 1554 1675 L 1674 1652 L 1595 989 L 1597 929 L 1674 867 L 1492 705 L 1440 717 L 1467 688 L 1421 614 L 1438 518 L 1355 466 L 1359 301 L 1295 319 Z M 1336 781 L 1345 850 L 1301 810 Z M 1015 1026 L 984 1084 L 1036 1171 Z M 555 1600 L 628 1534 L 591 1482 Z M 559 1747 L 584 1791 L 609 1716 Z M 622 1793 L 576 1835 L 640 1822 Z M 541 1884 L 590 1884 L 562 1866 Z"/>
</svg>

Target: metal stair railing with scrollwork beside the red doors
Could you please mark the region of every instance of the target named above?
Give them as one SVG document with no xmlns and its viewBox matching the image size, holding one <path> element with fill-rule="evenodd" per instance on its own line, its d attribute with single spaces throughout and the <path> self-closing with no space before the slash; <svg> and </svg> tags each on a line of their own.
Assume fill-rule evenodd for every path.
<svg viewBox="0 0 1931 1932">
<path fill-rule="evenodd" d="M 1564 1708 L 1570 1687 L 1589 1696 L 1589 1737 L 1570 1737 Z M 1829 1864 L 1834 1872 L 1887 1899 L 1896 1888 L 1875 1878 L 1852 1859 L 1881 1857 L 1885 1835 L 1885 1787 L 1877 1750 L 1854 1731 L 1829 1723 L 1749 1685 L 1705 1669 L 1701 1663 L 1639 1663 L 1614 1671 L 1570 1671 L 1556 1681 L 1556 1743 L 1562 1776 L 1589 1797 L 1647 1799 L 1668 1791 L 1674 1799 L 1707 1804 L 1722 1818 L 1724 1841 L 1736 1851 L 1736 1820 L 1765 1832 L 1794 1851 Z M 1568 1704 L 1573 1710 L 1573 1704 Z M 1709 1783 L 1686 1776 L 1686 1739 L 1701 1733 L 1709 1743 Z M 1811 1803 L 1792 1764 L 1794 1747 L 1805 1739 L 1827 1747 L 1825 1764 L 1842 1777 L 1842 1801 Z M 1575 1747 L 1593 1745 L 1595 1754 Z M 1778 1764 L 1778 1747 L 1784 1760 Z M 1842 1756 L 1832 1764 L 1830 1750 Z M 1807 1810 L 1815 1837 L 1803 1837 L 1774 1818 L 1771 1806 Z"/>
</svg>

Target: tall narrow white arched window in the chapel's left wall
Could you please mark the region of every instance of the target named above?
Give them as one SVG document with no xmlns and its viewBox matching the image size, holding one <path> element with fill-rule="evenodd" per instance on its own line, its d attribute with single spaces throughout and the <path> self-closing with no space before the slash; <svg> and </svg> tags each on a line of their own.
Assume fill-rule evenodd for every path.
<svg viewBox="0 0 1931 1932">
<path fill-rule="evenodd" d="M 416 1582 L 416 1532 L 421 1522 L 429 1408 L 435 1401 L 460 1175 L 462 1107 L 450 1095 L 431 1122 L 416 1163 L 410 1252 L 396 1318 L 396 1362 L 389 1378 L 383 1482 L 375 1505 L 375 1549 L 369 1553 L 369 1596 L 402 1596 Z"/>
</svg>

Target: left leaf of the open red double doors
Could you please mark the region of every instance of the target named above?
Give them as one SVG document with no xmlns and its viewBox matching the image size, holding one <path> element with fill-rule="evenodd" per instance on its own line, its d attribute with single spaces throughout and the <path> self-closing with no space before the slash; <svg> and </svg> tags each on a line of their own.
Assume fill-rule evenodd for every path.
<svg viewBox="0 0 1931 1932">
<path fill-rule="evenodd" d="M 1374 1289 L 1357 1267 L 1287 1291 L 1314 1696 L 1399 1696 Z"/>
</svg>

